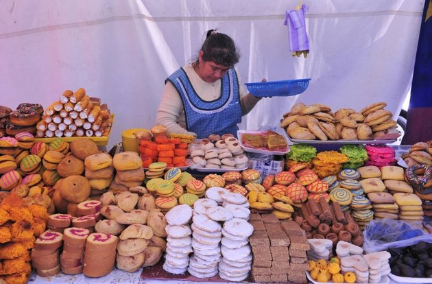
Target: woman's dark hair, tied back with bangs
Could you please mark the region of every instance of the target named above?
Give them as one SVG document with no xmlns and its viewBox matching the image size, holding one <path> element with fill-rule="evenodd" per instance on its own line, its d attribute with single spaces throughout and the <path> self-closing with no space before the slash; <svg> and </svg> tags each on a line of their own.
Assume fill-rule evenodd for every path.
<svg viewBox="0 0 432 284">
<path fill-rule="evenodd" d="M 201 50 L 204 53 L 202 56 L 204 61 L 213 61 L 218 65 L 233 67 L 240 59 L 234 40 L 215 29 L 210 29 L 207 32 Z"/>
</svg>

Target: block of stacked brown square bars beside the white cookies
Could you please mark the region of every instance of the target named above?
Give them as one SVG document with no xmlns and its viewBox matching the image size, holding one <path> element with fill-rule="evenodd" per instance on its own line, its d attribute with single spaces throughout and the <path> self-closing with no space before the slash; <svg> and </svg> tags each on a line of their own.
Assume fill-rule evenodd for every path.
<svg viewBox="0 0 432 284">
<path fill-rule="evenodd" d="M 307 283 L 309 243 L 304 230 L 292 220 L 279 221 L 272 214 L 250 215 L 254 233 L 252 279 L 256 283 Z"/>
</svg>

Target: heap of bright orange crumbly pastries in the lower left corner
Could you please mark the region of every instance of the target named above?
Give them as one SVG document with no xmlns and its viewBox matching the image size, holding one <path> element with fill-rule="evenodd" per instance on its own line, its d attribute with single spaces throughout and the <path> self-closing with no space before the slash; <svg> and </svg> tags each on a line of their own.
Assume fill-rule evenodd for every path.
<svg viewBox="0 0 432 284">
<path fill-rule="evenodd" d="M 40 259 L 34 259 L 31 249 L 36 237 L 45 231 L 47 209 L 38 204 L 27 206 L 14 193 L 0 204 L 0 279 L 5 283 L 27 283 Z M 45 256 L 44 256 L 45 257 Z M 37 263 L 37 264 L 36 264 Z M 36 264 L 36 265 L 35 265 Z M 42 264 L 41 264 L 42 265 Z"/>
</svg>

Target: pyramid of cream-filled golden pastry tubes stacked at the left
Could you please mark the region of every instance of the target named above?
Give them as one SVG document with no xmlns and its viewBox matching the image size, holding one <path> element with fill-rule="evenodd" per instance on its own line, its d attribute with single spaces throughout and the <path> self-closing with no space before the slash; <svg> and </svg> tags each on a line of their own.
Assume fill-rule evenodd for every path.
<svg viewBox="0 0 432 284">
<path fill-rule="evenodd" d="M 64 91 L 45 110 L 36 125 L 36 137 L 107 137 L 111 126 L 108 106 L 78 88 Z"/>
</svg>

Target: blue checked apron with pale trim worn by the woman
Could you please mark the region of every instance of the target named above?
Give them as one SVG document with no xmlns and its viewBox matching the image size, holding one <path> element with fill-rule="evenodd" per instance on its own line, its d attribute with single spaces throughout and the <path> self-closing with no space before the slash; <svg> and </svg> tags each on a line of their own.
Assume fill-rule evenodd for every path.
<svg viewBox="0 0 432 284">
<path fill-rule="evenodd" d="M 186 128 L 195 132 L 198 139 L 210 134 L 231 133 L 237 137 L 241 122 L 239 81 L 234 69 L 221 78 L 221 96 L 213 101 L 204 101 L 193 88 L 186 72 L 180 68 L 167 79 L 176 87 L 184 108 Z"/>
</svg>

